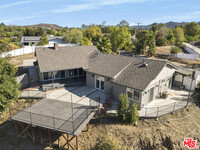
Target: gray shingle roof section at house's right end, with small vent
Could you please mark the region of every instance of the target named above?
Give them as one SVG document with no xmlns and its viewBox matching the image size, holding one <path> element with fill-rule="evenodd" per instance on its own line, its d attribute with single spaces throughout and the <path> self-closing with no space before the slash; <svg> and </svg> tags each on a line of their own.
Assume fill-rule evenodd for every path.
<svg viewBox="0 0 200 150">
<path fill-rule="evenodd" d="M 144 62 L 148 64 L 147 67 Z M 143 91 L 167 63 L 167 61 L 134 58 L 131 65 L 122 71 L 113 82 Z"/>
</svg>

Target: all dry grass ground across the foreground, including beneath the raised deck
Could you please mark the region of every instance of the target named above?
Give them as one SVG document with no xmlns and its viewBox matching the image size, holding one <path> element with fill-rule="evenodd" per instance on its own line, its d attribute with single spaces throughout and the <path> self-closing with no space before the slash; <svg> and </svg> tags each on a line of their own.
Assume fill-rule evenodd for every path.
<svg viewBox="0 0 200 150">
<path fill-rule="evenodd" d="M 25 101 L 20 101 L 20 108 L 28 105 Z M 180 118 L 190 114 L 197 108 L 192 105 L 187 109 L 178 111 L 175 114 L 168 114 L 160 117 L 159 120 L 168 120 Z M 1 127 L 1 125 L 0 125 Z M 86 130 L 86 129 L 85 129 Z M 35 128 L 36 137 L 39 135 L 38 129 Z M 52 132 L 54 145 L 57 145 L 57 138 Z M 200 142 L 200 108 L 197 109 L 190 117 L 172 121 L 159 122 L 155 120 L 139 121 L 138 126 L 119 124 L 114 116 L 102 115 L 94 118 L 90 122 L 89 131 L 82 132 L 79 135 L 79 147 L 81 150 L 95 150 L 105 138 L 111 137 L 121 145 L 123 149 L 129 150 L 147 150 L 147 149 L 182 149 L 182 143 L 185 137 L 192 137 Z M 43 131 L 44 141 L 48 143 L 47 131 Z M 66 135 L 65 135 L 66 137 Z M 29 138 L 17 138 L 14 126 L 8 127 L 0 133 L 0 150 L 4 149 L 58 149 L 57 146 L 48 147 L 39 143 L 39 136 L 36 138 L 37 143 L 33 143 Z M 63 137 L 60 137 L 60 144 L 65 144 Z M 75 145 L 75 140 L 72 141 Z M 200 145 L 200 143 L 198 143 Z"/>
</svg>

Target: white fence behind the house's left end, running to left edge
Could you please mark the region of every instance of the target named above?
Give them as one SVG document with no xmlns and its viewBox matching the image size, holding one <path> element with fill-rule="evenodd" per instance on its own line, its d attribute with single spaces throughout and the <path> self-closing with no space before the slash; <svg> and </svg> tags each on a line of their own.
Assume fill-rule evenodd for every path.
<svg viewBox="0 0 200 150">
<path fill-rule="evenodd" d="M 36 47 L 53 47 L 53 44 L 50 45 L 45 45 L 45 46 L 26 46 L 24 48 L 20 48 L 20 49 L 15 49 L 15 50 L 11 50 L 8 52 L 3 52 L 1 54 L 1 57 L 4 58 L 8 55 L 10 55 L 11 57 L 15 57 L 15 56 L 20 56 L 20 55 L 24 55 L 24 54 L 30 54 L 30 53 L 34 53 L 35 52 L 35 48 Z M 58 44 L 59 47 L 64 47 L 64 46 L 79 46 L 79 44 Z"/>
</svg>

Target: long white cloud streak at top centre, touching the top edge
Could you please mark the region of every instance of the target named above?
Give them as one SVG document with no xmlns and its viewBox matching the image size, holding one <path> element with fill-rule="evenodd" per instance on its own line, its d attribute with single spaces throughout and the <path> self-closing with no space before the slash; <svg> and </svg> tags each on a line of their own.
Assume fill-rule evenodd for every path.
<svg viewBox="0 0 200 150">
<path fill-rule="evenodd" d="M 158 0 L 84 0 L 84 4 L 78 5 L 66 5 L 53 10 L 53 13 L 68 13 L 81 10 L 98 9 L 103 6 L 119 5 L 125 3 L 143 3 L 147 1 L 158 1 Z M 160 0 L 161 1 L 161 0 Z"/>
</svg>

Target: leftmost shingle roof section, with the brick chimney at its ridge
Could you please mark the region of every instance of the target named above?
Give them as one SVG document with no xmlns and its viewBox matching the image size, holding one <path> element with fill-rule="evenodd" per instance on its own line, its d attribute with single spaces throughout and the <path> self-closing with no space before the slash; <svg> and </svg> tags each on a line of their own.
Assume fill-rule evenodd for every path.
<svg viewBox="0 0 200 150">
<path fill-rule="evenodd" d="M 97 50 L 95 46 L 74 46 L 53 48 L 36 48 L 40 72 L 88 68 L 88 56 Z"/>
</svg>

